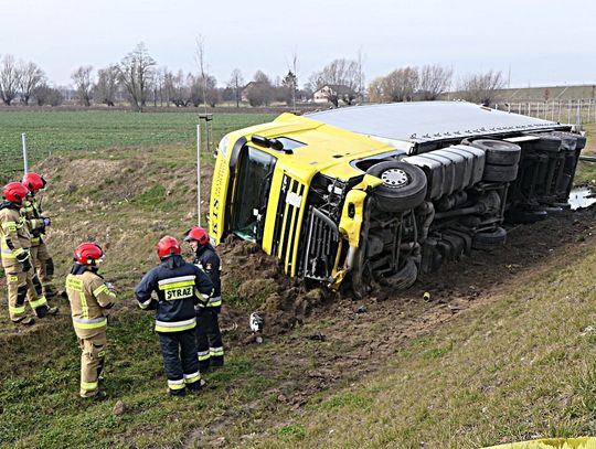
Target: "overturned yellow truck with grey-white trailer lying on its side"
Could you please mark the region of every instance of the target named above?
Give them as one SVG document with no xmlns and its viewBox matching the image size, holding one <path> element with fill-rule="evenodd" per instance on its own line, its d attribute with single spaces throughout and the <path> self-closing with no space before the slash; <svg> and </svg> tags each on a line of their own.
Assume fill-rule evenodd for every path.
<svg viewBox="0 0 596 449">
<path fill-rule="evenodd" d="M 259 245 L 288 276 L 407 288 L 507 239 L 504 223 L 568 207 L 574 126 L 462 101 L 356 106 L 225 136 L 210 235 Z"/>
</svg>

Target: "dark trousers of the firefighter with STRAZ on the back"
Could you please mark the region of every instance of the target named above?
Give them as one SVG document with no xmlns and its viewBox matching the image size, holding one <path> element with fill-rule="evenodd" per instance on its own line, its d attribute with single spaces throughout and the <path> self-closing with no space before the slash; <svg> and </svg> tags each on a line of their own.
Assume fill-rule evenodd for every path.
<svg viewBox="0 0 596 449">
<path fill-rule="evenodd" d="M 181 332 L 158 332 L 170 395 L 182 396 L 185 388 L 201 386 L 194 329 Z"/>
</svg>

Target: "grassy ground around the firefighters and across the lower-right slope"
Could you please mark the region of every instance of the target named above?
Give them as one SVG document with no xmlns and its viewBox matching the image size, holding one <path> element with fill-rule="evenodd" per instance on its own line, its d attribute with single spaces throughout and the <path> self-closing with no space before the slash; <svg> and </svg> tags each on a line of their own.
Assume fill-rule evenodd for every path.
<svg viewBox="0 0 596 449">
<path fill-rule="evenodd" d="M 83 151 L 40 167 L 52 180 L 46 203 L 55 216 L 50 236 L 58 279 L 76 242 L 109 244 L 105 272 L 123 306 L 110 322 L 106 387 L 128 410 L 114 415 L 115 399 L 76 399 L 78 349 L 67 316 L 17 332 L 3 308 L 0 447 L 180 447 L 189 432 L 221 416 L 236 416 L 221 430 L 227 441 L 270 448 L 409 448 L 421 441 L 471 448 L 596 428 L 596 332 L 589 328 L 596 320 L 596 243 L 589 236 L 560 259 L 504 282 L 481 309 L 396 349 L 385 368 L 351 378 L 302 409 L 275 400 L 252 414 L 246 407 L 281 382 L 260 376 L 255 360 L 283 350 L 283 339 L 232 348 L 227 367 L 209 376 L 216 389 L 168 399 L 151 317 L 136 310 L 131 288 L 155 265 L 156 239 L 179 235 L 193 221 L 192 161 L 188 143 Z M 277 425 L 241 439 L 262 420 Z"/>
</svg>

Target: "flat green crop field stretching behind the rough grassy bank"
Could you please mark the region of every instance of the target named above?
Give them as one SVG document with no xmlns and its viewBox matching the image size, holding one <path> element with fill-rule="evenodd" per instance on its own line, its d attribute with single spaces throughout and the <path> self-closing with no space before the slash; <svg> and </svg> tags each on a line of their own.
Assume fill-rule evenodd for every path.
<svg viewBox="0 0 596 449">
<path fill-rule="evenodd" d="M 269 121 L 272 114 L 214 115 L 215 141 L 234 129 Z M 0 182 L 22 171 L 21 135 L 26 133 L 30 164 L 49 154 L 77 150 L 157 148 L 196 141 L 199 114 L 127 111 L 0 113 Z M 204 124 L 204 122 L 203 122 Z"/>
</svg>

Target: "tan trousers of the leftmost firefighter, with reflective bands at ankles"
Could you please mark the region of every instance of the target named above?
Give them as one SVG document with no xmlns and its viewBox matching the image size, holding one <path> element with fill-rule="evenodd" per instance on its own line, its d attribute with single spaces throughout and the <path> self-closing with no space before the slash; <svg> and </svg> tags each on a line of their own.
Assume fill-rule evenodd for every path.
<svg viewBox="0 0 596 449">
<path fill-rule="evenodd" d="M 13 322 L 19 322 L 26 317 L 25 299 L 38 317 L 45 316 L 47 301 L 33 269 L 23 271 L 21 263 L 17 259 L 2 258 L 2 266 L 7 274 L 10 319 Z"/>
</svg>

